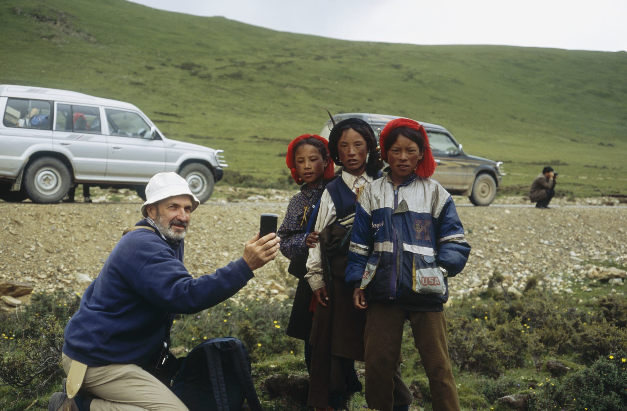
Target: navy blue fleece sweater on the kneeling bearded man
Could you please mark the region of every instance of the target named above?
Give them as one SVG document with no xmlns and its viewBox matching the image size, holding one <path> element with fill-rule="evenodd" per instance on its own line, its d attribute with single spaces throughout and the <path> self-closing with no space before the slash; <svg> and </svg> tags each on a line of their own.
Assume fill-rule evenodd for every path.
<svg viewBox="0 0 627 411">
<path fill-rule="evenodd" d="M 63 352 L 90 367 L 145 365 L 163 344 L 170 313 L 205 310 L 253 278 L 240 258 L 194 279 L 183 266 L 183 250 L 183 242 L 146 229 L 122 237 L 68 322 Z"/>
</svg>

